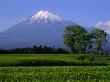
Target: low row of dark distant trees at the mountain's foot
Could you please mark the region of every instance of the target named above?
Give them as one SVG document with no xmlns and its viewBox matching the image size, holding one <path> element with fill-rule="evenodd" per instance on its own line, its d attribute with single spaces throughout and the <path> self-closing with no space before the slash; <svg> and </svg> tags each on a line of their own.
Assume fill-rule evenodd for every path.
<svg viewBox="0 0 110 82">
<path fill-rule="evenodd" d="M 54 48 L 47 46 L 39 46 L 34 45 L 32 48 L 16 48 L 10 50 L 0 49 L 1 54 L 64 54 L 68 53 L 66 50 L 62 48 Z"/>
</svg>

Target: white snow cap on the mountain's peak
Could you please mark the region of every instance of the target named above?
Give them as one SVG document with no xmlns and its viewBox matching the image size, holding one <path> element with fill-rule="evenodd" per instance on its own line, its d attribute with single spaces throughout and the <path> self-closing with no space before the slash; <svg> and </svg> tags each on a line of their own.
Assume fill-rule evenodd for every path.
<svg viewBox="0 0 110 82">
<path fill-rule="evenodd" d="M 44 20 L 44 22 L 48 22 L 48 20 L 50 20 L 51 22 L 55 22 L 61 21 L 62 19 L 58 15 L 52 14 L 51 12 L 41 10 L 33 15 L 30 20 Z"/>
</svg>

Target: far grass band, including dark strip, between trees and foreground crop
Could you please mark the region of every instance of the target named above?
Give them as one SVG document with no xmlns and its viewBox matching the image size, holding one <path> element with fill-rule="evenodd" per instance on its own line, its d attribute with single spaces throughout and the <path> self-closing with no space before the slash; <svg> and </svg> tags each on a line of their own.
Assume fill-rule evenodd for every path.
<svg viewBox="0 0 110 82">
<path fill-rule="evenodd" d="M 107 66 L 110 55 L 8 54 L 0 55 L 0 66 Z"/>
</svg>

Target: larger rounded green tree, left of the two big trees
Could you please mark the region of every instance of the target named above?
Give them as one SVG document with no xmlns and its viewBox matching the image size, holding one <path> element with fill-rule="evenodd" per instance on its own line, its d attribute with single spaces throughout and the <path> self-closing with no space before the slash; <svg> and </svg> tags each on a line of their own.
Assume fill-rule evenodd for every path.
<svg viewBox="0 0 110 82">
<path fill-rule="evenodd" d="M 71 53 L 85 53 L 90 42 L 89 33 L 79 25 L 65 28 L 63 37 L 64 44 L 69 47 Z"/>
</svg>

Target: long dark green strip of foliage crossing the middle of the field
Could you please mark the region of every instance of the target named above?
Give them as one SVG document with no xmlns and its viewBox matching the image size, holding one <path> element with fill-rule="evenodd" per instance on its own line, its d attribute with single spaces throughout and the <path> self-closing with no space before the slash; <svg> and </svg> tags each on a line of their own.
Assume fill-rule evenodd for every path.
<svg viewBox="0 0 110 82">
<path fill-rule="evenodd" d="M 82 60 L 82 59 L 81 59 Z M 83 59 L 84 60 L 84 59 Z M 18 66 L 107 66 L 105 62 L 93 61 L 60 61 L 60 60 L 21 60 L 19 62 L 0 63 L 0 67 L 18 67 Z"/>
</svg>

